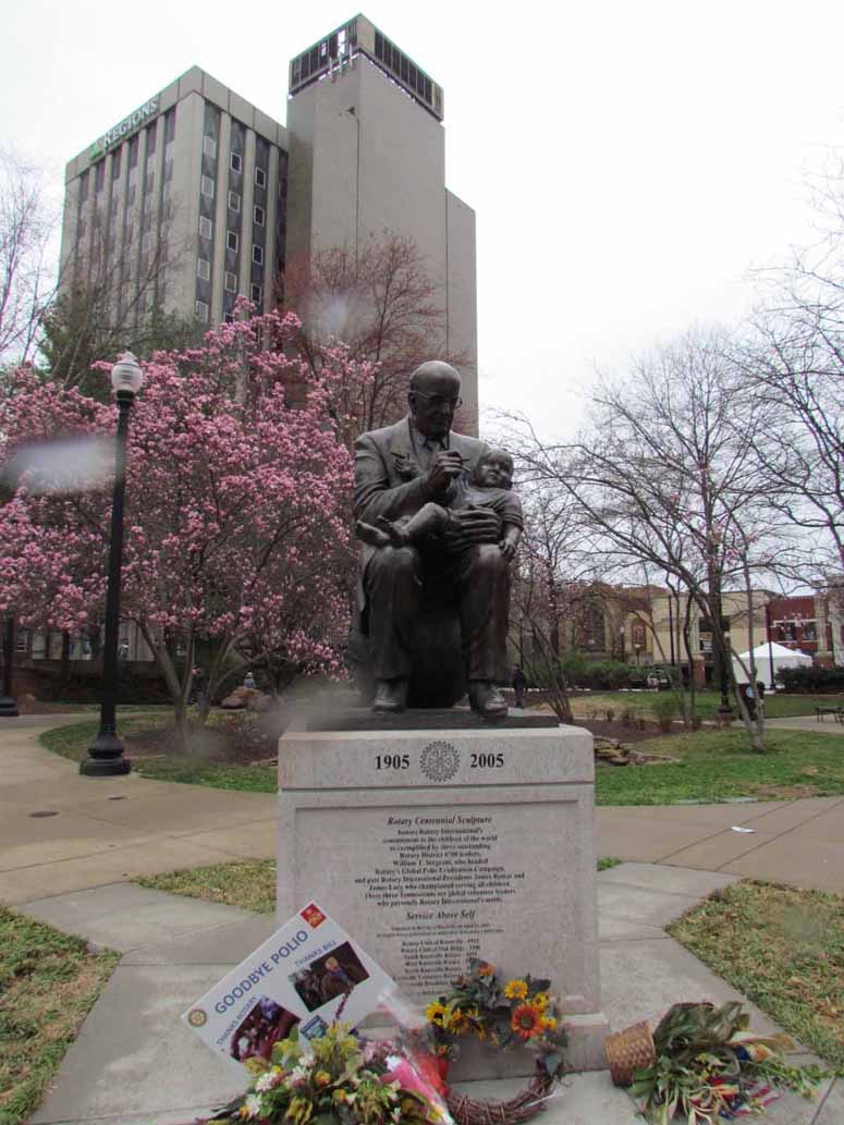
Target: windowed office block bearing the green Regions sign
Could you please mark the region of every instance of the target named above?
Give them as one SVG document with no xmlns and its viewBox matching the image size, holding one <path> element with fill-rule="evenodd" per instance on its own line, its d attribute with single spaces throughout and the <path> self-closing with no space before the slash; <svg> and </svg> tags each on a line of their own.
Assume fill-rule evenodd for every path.
<svg viewBox="0 0 844 1125">
<path fill-rule="evenodd" d="M 66 168 L 61 289 L 133 325 L 154 305 L 218 324 L 270 309 L 284 267 L 287 132 L 199 70 Z"/>
</svg>

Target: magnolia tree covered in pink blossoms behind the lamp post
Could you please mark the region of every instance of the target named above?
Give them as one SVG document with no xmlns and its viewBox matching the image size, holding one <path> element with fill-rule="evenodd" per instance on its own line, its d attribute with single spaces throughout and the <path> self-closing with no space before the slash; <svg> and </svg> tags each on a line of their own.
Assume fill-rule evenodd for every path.
<svg viewBox="0 0 844 1125">
<path fill-rule="evenodd" d="M 158 354 L 132 411 L 120 615 L 155 654 L 183 739 L 197 642 L 212 654 L 207 696 L 262 659 L 277 673 L 341 667 L 353 566 L 343 404 L 371 370 L 332 345 L 315 374 L 289 352 L 298 327 L 270 314 Z M 0 403 L 0 460 L 114 434 L 115 415 L 21 369 Z M 110 482 L 45 488 L 25 471 L 0 507 L 0 612 L 63 630 L 100 620 L 109 511 Z"/>
</svg>

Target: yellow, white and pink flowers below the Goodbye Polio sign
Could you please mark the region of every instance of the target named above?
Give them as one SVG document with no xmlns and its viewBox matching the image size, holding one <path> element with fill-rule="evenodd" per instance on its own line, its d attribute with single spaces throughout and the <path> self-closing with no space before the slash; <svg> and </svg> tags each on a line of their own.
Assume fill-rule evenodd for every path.
<svg viewBox="0 0 844 1125">
<path fill-rule="evenodd" d="M 449 1125 L 437 1088 L 392 1042 L 369 1042 L 347 1024 L 312 1041 L 296 1028 L 269 1062 L 250 1059 L 249 1090 L 210 1118 L 227 1125 Z"/>
</svg>

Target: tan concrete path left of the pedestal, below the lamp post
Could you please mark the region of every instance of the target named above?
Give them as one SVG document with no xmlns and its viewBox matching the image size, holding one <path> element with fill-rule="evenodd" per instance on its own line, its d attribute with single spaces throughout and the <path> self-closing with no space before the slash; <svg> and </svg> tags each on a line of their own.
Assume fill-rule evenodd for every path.
<svg viewBox="0 0 844 1125">
<path fill-rule="evenodd" d="M 38 735 L 82 716 L 0 720 L 0 901 L 276 854 L 276 798 L 82 777 Z"/>
</svg>

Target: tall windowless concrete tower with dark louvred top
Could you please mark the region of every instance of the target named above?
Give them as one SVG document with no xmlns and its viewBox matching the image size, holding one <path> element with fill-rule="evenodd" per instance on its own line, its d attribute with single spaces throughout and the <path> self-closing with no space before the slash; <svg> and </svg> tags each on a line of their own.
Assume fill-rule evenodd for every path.
<svg viewBox="0 0 844 1125">
<path fill-rule="evenodd" d="M 464 352 L 464 428 L 477 433 L 475 213 L 446 187 L 442 90 L 362 16 L 290 63 L 287 256 L 414 240 L 438 288 L 446 349 Z"/>
</svg>

